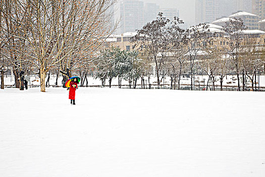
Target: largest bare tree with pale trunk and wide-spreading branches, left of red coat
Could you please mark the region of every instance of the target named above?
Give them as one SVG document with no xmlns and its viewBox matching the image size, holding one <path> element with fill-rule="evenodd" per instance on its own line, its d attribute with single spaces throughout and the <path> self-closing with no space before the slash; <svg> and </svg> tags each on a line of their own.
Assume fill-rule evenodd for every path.
<svg viewBox="0 0 265 177">
<path fill-rule="evenodd" d="M 17 28 L 16 33 L 8 34 L 23 43 L 20 48 L 6 43 L 38 69 L 41 92 L 45 92 L 45 76 L 51 68 L 64 65 L 71 75 L 71 70 L 98 57 L 95 51 L 113 30 L 108 26 L 108 9 L 113 3 L 32 0 L 15 1 L 16 6 L 10 7 L 6 16 Z"/>
</svg>

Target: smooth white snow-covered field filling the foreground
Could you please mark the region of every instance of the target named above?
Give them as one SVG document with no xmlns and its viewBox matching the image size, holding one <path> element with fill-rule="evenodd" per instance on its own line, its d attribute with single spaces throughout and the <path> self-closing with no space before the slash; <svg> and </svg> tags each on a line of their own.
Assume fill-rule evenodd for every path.
<svg viewBox="0 0 265 177">
<path fill-rule="evenodd" d="M 0 90 L 3 177 L 264 177 L 262 92 Z"/>
</svg>

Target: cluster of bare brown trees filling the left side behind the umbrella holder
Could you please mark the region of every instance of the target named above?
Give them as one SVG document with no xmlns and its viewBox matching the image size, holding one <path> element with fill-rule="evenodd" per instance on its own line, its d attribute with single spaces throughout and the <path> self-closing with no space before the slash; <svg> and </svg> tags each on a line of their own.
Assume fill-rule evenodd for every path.
<svg viewBox="0 0 265 177">
<path fill-rule="evenodd" d="M 41 92 L 45 92 L 45 77 L 51 69 L 60 70 L 65 79 L 72 71 L 86 70 L 98 58 L 101 43 L 115 29 L 109 23 L 114 3 L 1 0 L 1 74 L 12 68 L 19 87 L 19 72 L 33 68 L 39 74 Z"/>
</svg>

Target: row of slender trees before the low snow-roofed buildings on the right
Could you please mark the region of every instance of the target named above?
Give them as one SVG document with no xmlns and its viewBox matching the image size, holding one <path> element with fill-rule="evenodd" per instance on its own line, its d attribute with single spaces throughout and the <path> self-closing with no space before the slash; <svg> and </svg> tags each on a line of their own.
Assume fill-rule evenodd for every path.
<svg viewBox="0 0 265 177">
<path fill-rule="evenodd" d="M 227 74 L 236 74 L 238 91 L 246 90 L 247 81 L 252 89 L 256 84 L 254 77 L 264 67 L 264 41 L 257 35 L 246 35 L 243 21 L 231 19 L 223 26 L 222 38 L 210 31 L 206 24 L 198 24 L 189 29 L 182 29 L 183 21 L 173 21 L 158 14 L 156 20 L 147 23 L 137 31 L 132 39 L 135 47 L 148 51 L 149 63 L 155 66 L 157 87 L 167 75 L 171 78 L 171 89 L 180 89 L 181 76 L 185 73 L 191 78 L 191 90 L 194 88 L 194 70 L 206 74 L 206 90 L 209 82 L 215 85 L 220 81 L 223 90 Z M 223 46 L 213 45 L 220 40 Z M 265 71 L 264 71 L 265 72 Z"/>
</svg>

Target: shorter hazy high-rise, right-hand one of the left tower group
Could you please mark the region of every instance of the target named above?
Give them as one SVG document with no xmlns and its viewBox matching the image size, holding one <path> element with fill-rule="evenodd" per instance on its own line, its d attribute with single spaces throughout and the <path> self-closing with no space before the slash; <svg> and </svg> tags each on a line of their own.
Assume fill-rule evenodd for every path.
<svg viewBox="0 0 265 177">
<path fill-rule="evenodd" d="M 144 5 L 144 24 L 155 20 L 159 12 L 160 7 L 157 4 L 146 3 Z"/>
</svg>

